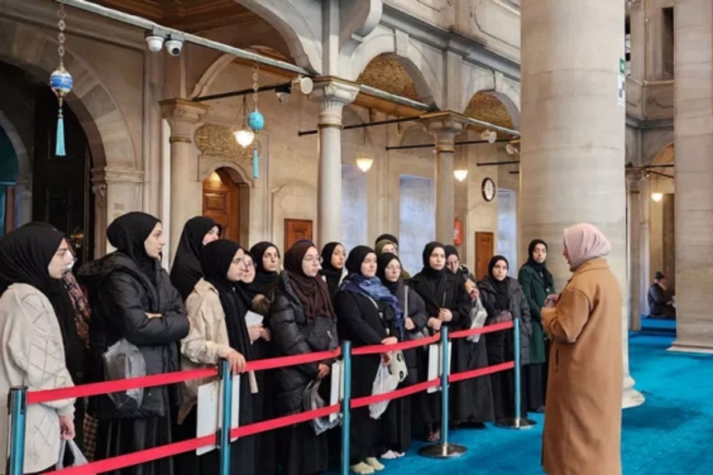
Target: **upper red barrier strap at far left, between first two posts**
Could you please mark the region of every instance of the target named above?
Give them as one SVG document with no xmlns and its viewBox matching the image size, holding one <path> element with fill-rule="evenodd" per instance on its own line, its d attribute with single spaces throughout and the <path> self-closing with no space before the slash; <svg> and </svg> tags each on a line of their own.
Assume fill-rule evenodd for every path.
<svg viewBox="0 0 713 475">
<path fill-rule="evenodd" d="M 104 395 L 110 392 L 133 390 L 140 387 L 173 385 L 177 382 L 198 380 L 204 377 L 213 377 L 217 374 L 217 368 L 212 367 L 205 370 L 176 371 L 167 372 L 163 375 L 130 377 L 126 380 L 93 382 L 88 385 L 61 387 L 56 390 L 29 391 L 27 392 L 27 404 L 41 404 L 42 402 L 57 401 L 72 397 Z"/>
</svg>

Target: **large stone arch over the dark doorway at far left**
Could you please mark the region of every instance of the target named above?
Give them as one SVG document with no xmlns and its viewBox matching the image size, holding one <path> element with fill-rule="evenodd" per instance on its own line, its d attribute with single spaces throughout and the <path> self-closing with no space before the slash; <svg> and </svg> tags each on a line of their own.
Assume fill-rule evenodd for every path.
<svg viewBox="0 0 713 475">
<path fill-rule="evenodd" d="M 48 78 L 57 66 L 57 43 L 39 28 L 0 19 L 0 61 Z M 95 167 L 136 168 L 138 157 L 128 124 L 116 100 L 91 67 L 67 48 L 64 58 L 74 78 L 66 102 L 86 133 Z"/>
</svg>

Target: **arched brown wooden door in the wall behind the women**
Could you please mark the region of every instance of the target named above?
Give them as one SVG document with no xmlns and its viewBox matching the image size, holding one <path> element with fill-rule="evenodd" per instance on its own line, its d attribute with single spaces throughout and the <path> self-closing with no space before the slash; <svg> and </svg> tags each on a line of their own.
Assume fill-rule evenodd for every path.
<svg viewBox="0 0 713 475">
<path fill-rule="evenodd" d="M 203 181 L 203 216 L 222 226 L 222 237 L 244 241 L 247 237 L 247 187 L 231 169 L 219 168 Z M 247 242 L 247 241 L 246 241 Z"/>
</svg>

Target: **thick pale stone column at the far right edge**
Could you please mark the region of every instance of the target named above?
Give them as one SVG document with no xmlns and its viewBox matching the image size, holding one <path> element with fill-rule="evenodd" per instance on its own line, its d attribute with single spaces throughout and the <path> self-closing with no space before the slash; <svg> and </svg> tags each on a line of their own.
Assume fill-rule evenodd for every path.
<svg viewBox="0 0 713 475">
<path fill-rule="evenodd" d="M 672 350 L 713 353 L 713 2 L 675 4 L 676 304 Z"/>
</svg>

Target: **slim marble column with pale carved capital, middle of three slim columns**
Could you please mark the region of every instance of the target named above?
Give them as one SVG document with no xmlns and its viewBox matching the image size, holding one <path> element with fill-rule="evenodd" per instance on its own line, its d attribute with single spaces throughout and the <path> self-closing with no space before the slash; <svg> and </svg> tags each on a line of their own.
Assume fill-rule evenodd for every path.
<svg viewBox="0 0 713 475">
<path fill-rule="evenodd" d="M 342 110 L 354 102 L 359 87 L 334 78 L 314 81 L 319 103 L 319 173 L 317 178 L 317 246 L 342 239 Z"/>
</svg>

